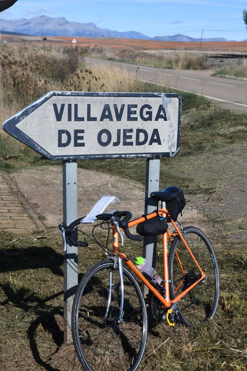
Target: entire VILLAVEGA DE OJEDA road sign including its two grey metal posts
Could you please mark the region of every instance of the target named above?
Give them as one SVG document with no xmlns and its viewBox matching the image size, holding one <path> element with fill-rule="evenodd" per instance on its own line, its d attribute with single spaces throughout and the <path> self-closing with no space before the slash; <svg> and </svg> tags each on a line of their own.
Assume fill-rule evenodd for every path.
<svg viewBox="0 0 247 371">
<path fill-rule="evenodd" d="M 181 97 L 166 93 L 49 92 L 4 121 L 3 129 L 49 160 L 63 161 L 63 221 L 77 219 L 77 161 L 146 157 L 145 213 L 157 202 L 160 157 L 180 148 Z M 99 195 L 100 196 L 100 195 Z M 156 237 L 144 240 L 156 263 Z M 71 309 L 78 284 L 77 247 L 64 253 L 64 340 L 72 341 Z"/>
</svg>

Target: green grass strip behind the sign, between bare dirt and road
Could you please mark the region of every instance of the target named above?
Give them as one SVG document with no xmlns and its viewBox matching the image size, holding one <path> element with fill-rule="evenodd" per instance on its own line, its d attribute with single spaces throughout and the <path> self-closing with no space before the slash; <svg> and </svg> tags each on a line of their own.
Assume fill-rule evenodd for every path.
<svg viewBox="0 0 247 371">
<path fill-rule="evenodd" d="M 161 159 L 161 176 L 166 174 L 168 183 L 172 183 L 174 179 L 180 181 L 176 166 L 184 161 L 182 157 L 190 157 L 246 139 L 247 115 L 218 109 L 203 96 L 174 91 L 170 88 L 165 89 L 160 85 L 136 81 L 133 90 L 136 92 L 162 92 L 165 90 L 181 95 L 183 115 L 181 149 L 175 158 Z M 61 161 L 51 162 L 45 159 L 16 139 L 9 139 L 11 143 L 6 144 L 0 137 L 0 169 L 3 171 L 12 172 L 21 167 L 61 164 Z M 176 164 L 175 168 L 174 164 Z M 141 183 L 145 181 L 146 160 L 144 159 L 136 159 L 135 161 L 119 159 L 115 160 L 114 163 L 112 160 L 84 160 L 79 161 L 78 165 L 81 168 L 115 175 L 122 175 L 124 172 L 130 179 Z M 185 184 L 189 183 L 189 180 L 186 181 L 183 177 L 181 177 L 181 180 Z"/>
</svg>

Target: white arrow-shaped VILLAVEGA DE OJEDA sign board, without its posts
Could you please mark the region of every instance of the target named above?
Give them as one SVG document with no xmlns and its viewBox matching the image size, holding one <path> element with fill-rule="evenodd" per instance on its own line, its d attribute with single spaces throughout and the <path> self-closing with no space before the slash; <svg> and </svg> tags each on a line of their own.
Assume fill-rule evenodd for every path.
<svg viewBox="0 0 247 371">
<path fill-rule="evenodd" d="M 50 160 L 170 157 L 180 116 L 178 94 L 49 92 L 3 129 Z"/>
</svg>

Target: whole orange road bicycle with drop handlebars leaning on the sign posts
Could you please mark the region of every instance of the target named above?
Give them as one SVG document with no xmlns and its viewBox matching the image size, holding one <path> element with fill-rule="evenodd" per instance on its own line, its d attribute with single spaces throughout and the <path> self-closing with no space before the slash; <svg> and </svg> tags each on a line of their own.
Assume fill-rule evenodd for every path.
<svg viewBox="0 0 247 371">
<path fill-rule="evenodd" d="M 216 257 L 210 241 L 200 229 L 176 225 L 178 213 L 185 205 L 181 189 L 167 187 L 151 193 L 150 197 L 161 201 L 161 209 L 136 220 L 130 220 L 129 211 L 97 216 L 109 230 L 111 223 L 113 247 L 110 254 L 107 246 L 97 241 L 107 260 L 95 264 L 84 274 L 72 309 L 73 342 L 86 371 L 134 371 L 140 365 L 147 343 L 148 318 L 146 301 L 136 276 L 151 294 L 151 312 L 156 321 L 190 327 L 213 318 L 216 313 L 220 289 Z M 71 232 L 80 221 L 81 218 L 69 227 L 60 224 L 64 242 L 67 233 L 74 244 L 79 243 L 72 239 Z M 123 246 L 122 230 L 129 239 L 141 241 L 143 236 L 131 234 L 129 227 L 138 226 L 137 231 L 145 227 L 150 229 L 150 221 L 153 226 L 147 233 L 152 234 L 153 228 L 154 234 L 163 236 L 164 279 L 160 284 L 141 273 L 119 247 L 119 238 Z M 167 223 L 174 227 L 173 232 L 169 231 Z M 169 254 L 167 240 L 171 243 Z"/>
</svg>

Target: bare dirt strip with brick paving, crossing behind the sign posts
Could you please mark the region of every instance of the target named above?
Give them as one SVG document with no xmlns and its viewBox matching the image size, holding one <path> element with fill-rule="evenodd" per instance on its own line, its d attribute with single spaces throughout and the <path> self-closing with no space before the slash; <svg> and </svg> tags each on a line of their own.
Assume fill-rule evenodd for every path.
<svg viewBox="0 0 247 371">
<path fill-rule="evenodd" d="M 184 209 L 183 219 L 180 219 L 184 225 L 195 225 L 207 233 L 210 230 L 213 233 L 214 228 L 221 229 L 224 235 L 231 231 L 233 234 L 228 237 L 232 240 L 236 236 L 241 241 L 246 239 L 246 154 L 246 145 L 237 143 L 220 151 L 186 158 L 182 176 L 191 179 L 192 188 L 201 180 L 212 191 L 205 192 L 202 186 L 193 195 L 185 192 L 190 202 Z M 11 188 L 6 179 L 12 183 Z M 57 227 L 63 220 L 61 166 L 20 170 L 5 175 L 2 181 L 1 229 L 44 229 Z M 164 179 L 160 181 L 165 184 Z M 78 217 L 86 215 L 106 194 L 120 198 L 119 210 L 130 210 L 133 217 L 138 217 L 144 212 L 144 188 L 144 185 L 128 179 L 127 174 L 117 177 L 79 168 Z"/>
</svg>

